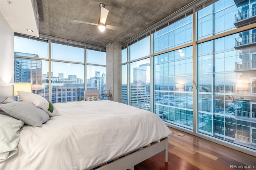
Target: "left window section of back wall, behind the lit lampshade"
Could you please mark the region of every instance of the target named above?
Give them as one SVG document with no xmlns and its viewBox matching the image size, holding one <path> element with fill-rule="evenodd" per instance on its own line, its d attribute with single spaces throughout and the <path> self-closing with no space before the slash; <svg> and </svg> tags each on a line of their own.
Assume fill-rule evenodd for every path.
<svg viewBox="0 0 256 170">
<path fill-rule="evenodd" d="M 14 36 L 14 82 L 31 83 L 32 93 L 49 99 L 48 40 Z"/>
</svg>

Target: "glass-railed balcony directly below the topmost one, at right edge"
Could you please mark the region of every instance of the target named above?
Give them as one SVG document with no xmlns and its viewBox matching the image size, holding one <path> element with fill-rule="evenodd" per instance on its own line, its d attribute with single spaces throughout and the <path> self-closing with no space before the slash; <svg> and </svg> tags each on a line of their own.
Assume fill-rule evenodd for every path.
<svg viewBox="0 0 256 170">
<path fill-rule="evenodd" d="M 235 49 L 241 49 L 256 45 L 256 34 L 250 34 L 235 39 Z"/>
</svg>

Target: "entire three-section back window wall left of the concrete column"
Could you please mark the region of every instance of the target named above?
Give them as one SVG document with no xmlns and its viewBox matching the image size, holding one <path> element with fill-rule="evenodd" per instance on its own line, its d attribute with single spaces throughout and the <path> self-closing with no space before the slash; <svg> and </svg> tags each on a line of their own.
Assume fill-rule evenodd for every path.
<svg viewBox="0 0 256 170">
<path fill-rule="evenodd" d="M 80 101 L 85 87 L 98 89 L 100 94 L 106 89 L 106 53 L 102 47 L 86 49 L 85 44 L 17 34 L 14 57 L 15 82 L 31 83 L 32 93 L 52 103 Z"/>
</svg>

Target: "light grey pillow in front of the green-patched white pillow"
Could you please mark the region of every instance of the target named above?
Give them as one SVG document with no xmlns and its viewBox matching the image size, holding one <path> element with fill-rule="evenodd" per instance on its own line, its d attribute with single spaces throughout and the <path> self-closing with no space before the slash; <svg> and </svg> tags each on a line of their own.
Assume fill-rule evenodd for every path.
<svg viewBox="0 0 256 170">
<path fill-rule="evenodd" d="M 23 121 L 27 125 L 42 126 L 49 120 L 49 115 L 42 109 L 28 102 L 11 102 L 0 105 L 0 108 L 11 117 Z"/>
</svg>

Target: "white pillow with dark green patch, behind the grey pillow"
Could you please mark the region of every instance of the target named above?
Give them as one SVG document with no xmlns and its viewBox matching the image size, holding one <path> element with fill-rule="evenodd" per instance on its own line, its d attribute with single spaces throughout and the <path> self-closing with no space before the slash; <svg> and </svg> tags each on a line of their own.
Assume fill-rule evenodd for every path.
<svg viewBox="0 0 256 170">
<path fill-rule="evenodd" d="M 34 93 L 28 93 L 24 91 L 18 91 L 21 101 L 32 103 L 36 107 L 43 109 L 49 116 L 59 116 L 60 113 L 57 108 L 48 101 L 46 98 L 36 95 Z"/>
</svg>

